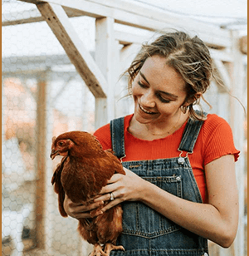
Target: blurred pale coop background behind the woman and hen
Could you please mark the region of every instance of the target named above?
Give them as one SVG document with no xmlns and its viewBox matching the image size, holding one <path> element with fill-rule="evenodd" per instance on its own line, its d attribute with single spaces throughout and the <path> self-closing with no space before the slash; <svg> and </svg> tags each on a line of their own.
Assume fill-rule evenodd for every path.
<svg viewBox="0 0 249 256">
<path fill-rule="evenodd" d="M 37 7 L 36 0 L 2 0 L 2 255 L 90 253 L 76 232 L 76 219 L 58 212 L 51 186 L 58 161 L 49 158 L 51 138 L 68 130 L 93 133 L 132 113 L 127 78 L 120 75 L 141 43 L 174 28 L 207 42 L 221 83 L 212 81 L 205 96 L 212 109 L 205 102 L 203 108 L 229 122 L 241 150 L 237 239 L 231 249 L 210 242 L 210 255 L 247 255 L 247 1 L 53 0 L 51 6 L 64 2 L 70 18 L 56 13 L 65 20 L 61 27 L 70 24 L 72 33 L 65 37 L 79 42 L 74 57 L 56 25 L 45 21 L 49 9 Z M 77 55 L 90 60 L 88 66 L 92 60 L 100 66 L 105 79 L 96 75 L 97 80 L 108 84 L 103 83 L 106 96 L 100 96 L 104 105 L 82 78 L 86 71 Z M 99 74 L 95 66 L 91 70 Z"/>
</svg>

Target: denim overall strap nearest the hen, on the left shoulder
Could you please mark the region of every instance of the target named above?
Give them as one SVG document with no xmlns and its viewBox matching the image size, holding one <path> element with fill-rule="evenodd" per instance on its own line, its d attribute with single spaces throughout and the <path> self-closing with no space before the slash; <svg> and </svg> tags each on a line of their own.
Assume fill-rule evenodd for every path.
<svg viewBox="0 0 249 256">
<path fill-rule="evenodd" d="M 110 121 L 112 150 L 115 152 L 115 155 L 120 159 L 125 156 L 124 121 L 124 117 L 120 117 Z"/>
</svg>

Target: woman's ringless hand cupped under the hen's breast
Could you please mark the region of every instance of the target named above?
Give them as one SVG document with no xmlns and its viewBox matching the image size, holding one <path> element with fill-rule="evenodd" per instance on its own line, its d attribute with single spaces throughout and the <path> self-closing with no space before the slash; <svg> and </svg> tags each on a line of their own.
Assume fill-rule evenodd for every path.
<svg viewBox="0 0 249 256">
<path fill-rule="evenodd" d="M 97 207 L 103 204 L 104 202 L 101 200 L 98 200 L 97 202 L 94 202 L 93 204 L 89 204 L 89 205 L 76 204 L 72 202 L 67 195 L 65 195 L 63 206 L 66 211 L 66 214 L 68 214 L 72 218 L 81 219 L 81 218 L 93 218 L 101 214 L 101 212 L 98 211 L 95 213 L 95 215 L 93 215 L 93 214 L 90 214 L 90 211 L 93 209 L 96 209 Z"/>
</svg>

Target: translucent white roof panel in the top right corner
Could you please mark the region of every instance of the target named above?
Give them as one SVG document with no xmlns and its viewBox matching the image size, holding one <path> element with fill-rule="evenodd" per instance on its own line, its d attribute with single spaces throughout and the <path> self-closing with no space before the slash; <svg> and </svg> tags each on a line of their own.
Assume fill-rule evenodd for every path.
<svg viewBox="0 0 249 256">
<path fill-rule="evenodd" d="M 126 0 L 247 33 L 247 0 Z"/>
</svg>

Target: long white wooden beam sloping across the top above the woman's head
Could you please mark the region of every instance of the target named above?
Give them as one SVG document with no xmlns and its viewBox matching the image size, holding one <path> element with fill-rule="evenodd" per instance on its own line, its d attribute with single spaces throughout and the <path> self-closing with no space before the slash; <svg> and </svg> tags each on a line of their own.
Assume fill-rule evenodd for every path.
<svg viewBox="0 0 249 256">
<path fill-rule="evenodd" d="M 34 2 L 37 0 L 21 0 Z M 40 0 L 40 2 L 45 2 Z M 100 0 L 49 0 L 63 7 L 70 7 L 90 17 L 112 17 L 115 22 L 132 27 L 144 28 L 150 31 L 167 29 L 184 30 L 192 35 L 198 34 L 204 42 L 213 47 L 230 47 L 231 37 L 227 30 L 209 25 L 204 22 L 194 21 L 191 18 L 176 16 L 164 10 L 154 10 L 141 7 L 133 2 L 125 1 L 100 1 Z"/>
</svg>

